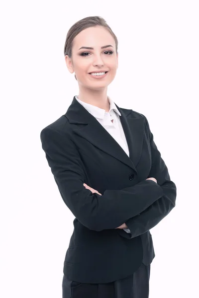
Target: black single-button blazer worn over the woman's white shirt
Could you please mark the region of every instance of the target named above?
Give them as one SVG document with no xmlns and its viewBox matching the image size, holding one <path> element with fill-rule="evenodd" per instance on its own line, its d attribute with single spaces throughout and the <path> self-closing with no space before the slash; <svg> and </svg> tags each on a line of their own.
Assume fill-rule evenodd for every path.
<svg viewBox="0 0 199 298">
<path fill-rule="evenodd" d="M 75 96 L 66 114 L 40 135 L 62 199 L 75 216 L 63 272 L 80 283 L 109 283 L 133 274 L 142 262 L 150 264 L 155 253 L 149 229 L 175 207 L 176 185 L 146 117 L 116 107 L 129 157 Z M 116 228 L 123 223 L 131 233 Z"/>
</svg>

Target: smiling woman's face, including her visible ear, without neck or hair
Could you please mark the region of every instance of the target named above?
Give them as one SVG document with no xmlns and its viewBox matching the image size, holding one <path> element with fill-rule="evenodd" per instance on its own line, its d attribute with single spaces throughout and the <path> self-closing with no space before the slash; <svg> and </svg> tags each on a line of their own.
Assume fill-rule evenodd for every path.
<svg viewBox="0 0 199 298">
<path fill-rule="evenodd" d="M 105 48 L 104 46 L 107 46 Z M 90 47 L 85 49 L 81 47 Z M 73 40 L 72 59 L 65 57 L 70 73 L 75 72 L 79 85 L 92 89 L 103 89 L 112 82 L 118 67 L 118 55 L 112 35 L 102 26 L 81 31 Z M 95 78 L 90 73 L 108 73 Z"/>
</svg>

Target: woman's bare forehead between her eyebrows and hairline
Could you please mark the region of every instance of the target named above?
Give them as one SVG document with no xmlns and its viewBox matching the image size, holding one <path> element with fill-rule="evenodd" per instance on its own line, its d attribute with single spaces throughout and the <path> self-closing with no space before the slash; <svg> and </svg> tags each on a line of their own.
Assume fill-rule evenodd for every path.
<svg viewBox="0 0 199 298">
<path fill-rule="evenodd" d="M 97 49 L 108 44 L 114 47 L 115 41 L 110 32 L 102 26 L 86 28 L 76 35 L 73 40 L 73 47 L 76 50 L 82 46 Z"/>
</svg>

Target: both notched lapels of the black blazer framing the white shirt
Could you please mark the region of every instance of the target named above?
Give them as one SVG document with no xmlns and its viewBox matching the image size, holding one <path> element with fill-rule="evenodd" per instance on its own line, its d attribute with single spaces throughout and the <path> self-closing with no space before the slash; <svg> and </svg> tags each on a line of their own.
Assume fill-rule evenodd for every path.
<svg viewBox="0 0 199 298">
<path fill-rule="evenodd" d="M 72 125 L 74 134 L 85 138 L 91 144 L 125 163 L 137 173 L 136 165 L 141 156 L 144 138 L 144 117 L 134 118 L 132 110 L 119 108 L 117 105 L 116 107 L 121 113 L 119 117 L 128 144 L 129 156 L 98 120 L 76 100 L 75 96 L 65 116 Z"/>
</svg>

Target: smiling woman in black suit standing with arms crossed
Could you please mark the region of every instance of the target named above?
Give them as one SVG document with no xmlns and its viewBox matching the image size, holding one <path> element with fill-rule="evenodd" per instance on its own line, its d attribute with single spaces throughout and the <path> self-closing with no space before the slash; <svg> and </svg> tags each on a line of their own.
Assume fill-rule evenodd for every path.
<svg viewBox="0 0 199 298">
<path fill-rule="evenodd" d="M 155 256 L 149 229 L 175 207 L 176 185 L 146 117 L 107 96 L 117 45 L 99 16 L 70 28 L 64 55 L 79 95 L 41 131 L 48 164 L 75 216 L 63 298 L 148 298 Z"/>
</svg>

